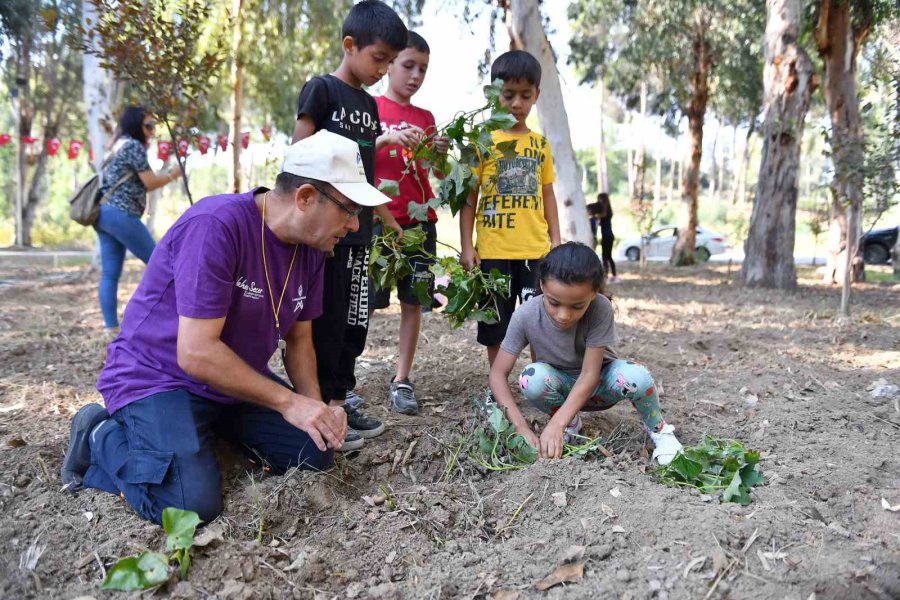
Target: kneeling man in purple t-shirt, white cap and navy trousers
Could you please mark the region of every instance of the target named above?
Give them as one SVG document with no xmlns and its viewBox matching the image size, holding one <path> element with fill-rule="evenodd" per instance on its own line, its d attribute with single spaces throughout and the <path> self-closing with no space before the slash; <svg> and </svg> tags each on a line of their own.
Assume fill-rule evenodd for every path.
<svg viewBox="0 0 900 600">
<path fill-rule="evenodd" d="M 157 523 L 166 507 L 222 511 L 215 437 L 269 470 L 322 469 L 347 430 L 322 401 L 312 319 L 326 251 L 390 201 L 357 144 L 321 131 L 287 149 L 275 188 L 204 198 L 163 236 L 97 381 L 106 409 L 72 421 L 63 489 L 122 493 Z M 293 387 L 268 368 L 281 350 Z"/>
</svg>

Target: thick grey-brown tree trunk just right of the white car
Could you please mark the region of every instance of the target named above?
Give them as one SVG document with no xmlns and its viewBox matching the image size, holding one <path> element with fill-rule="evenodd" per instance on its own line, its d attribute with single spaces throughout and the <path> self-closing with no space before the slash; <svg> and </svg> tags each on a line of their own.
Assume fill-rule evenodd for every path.
<svg viewBox="0 0 900 600">
<path fill-rule="evenodd" d="M 763 151 L 741 278 L 751 287 L 793 290 L 800 144 L 815 83 L 798 42 L 800 0 L 767 4 Z"/>
</svg>

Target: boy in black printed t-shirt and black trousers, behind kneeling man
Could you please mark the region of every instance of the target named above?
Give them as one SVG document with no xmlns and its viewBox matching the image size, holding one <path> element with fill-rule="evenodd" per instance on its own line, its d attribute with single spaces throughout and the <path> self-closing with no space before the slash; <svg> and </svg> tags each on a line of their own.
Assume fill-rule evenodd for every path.
<svg viewBox="0 0 900 600">
<path fill-rule="evenodd" d="M 344 20 L 341 42 L 344 58 L 337 70 L 313 77 L 300 91 L 293 141 L 325 129 L 359 145 L 359 168 L 375 184 L 375 150 L 386 144 L 412 148 L 420 129 L 381 135 L 375 99 L 362 86 L 376 84 L 397 55 L 406 48 L 407 29 L 387 4 L 363 0 Z M 359 215 L 359 231 L 348 235 L 325 261 L 324 312 L 313 321 L 313 344 L 322 397 L 347 411 L 347 436 L 341 451 L 357 450 L 363 440 L 381 435 L 384 424 L 363 414 L 354 391 L 356 359 L 366 346 L 369 328 L 369 249 L 372 246 L 372 209 Z M 402 237 L 403 229 L 386 206 L 375 208 L 386 227 Z"/>
</svg>

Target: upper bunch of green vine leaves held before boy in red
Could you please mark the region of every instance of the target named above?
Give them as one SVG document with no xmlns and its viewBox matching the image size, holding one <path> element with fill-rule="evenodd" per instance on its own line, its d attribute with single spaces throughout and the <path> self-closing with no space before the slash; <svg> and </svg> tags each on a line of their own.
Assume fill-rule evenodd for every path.
<svg viewBox="0 0 900 600">
<path fill-rule="evenodd" d="M 436 127 L 435 131 L 423 138 L 419 144 L 408 154 L 407 166 L 401 179 L 413 177 L 417 182 L 422 177 L 421 169 L 425 175 L 436 173 L 440 178 L 435 197 L 428 199 L 423 204 L 410 202 L 409 216 L 417 221 L 425 221 L 428 218 L 428 209 L 438 209 L 441 206 L 449 206 L 453 215 L 456 215 L 469 197 L 469 192 L 478 185 L 473 169 L 482 159 L 489 155 L 494 145 L 491 132 L 509 129 L 516 124 L 516 118 L 505 108 L 500 106 L 500 80 L 484 86 L 485 104 L 468 112 L 457 113 L 450 121 Z M 438 152 L 435 148 L 435 138 L 447 138 L 450 147 L 446 153 Z M 504 156 L 515 154 L 515 141 L 497 144 L 497 149 Z M 421 169 L 417 169 L 418 164 Z M 388 195 L 396 195 L 399 182 L 392 179 L 382 179 L 378 189 Z"/>
</svg>

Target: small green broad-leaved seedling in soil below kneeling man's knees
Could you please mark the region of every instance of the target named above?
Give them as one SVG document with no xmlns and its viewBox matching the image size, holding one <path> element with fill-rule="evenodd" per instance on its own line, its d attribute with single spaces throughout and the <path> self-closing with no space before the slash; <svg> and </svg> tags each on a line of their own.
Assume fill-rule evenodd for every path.
<svg viewBox="0 0 900 600">
<path fill-rule="evenodd" d="M 190 510 L 169 507 L 163 511 L 163 530 L 166 532 L 166 551 L 142 552 L 118 561 L 109 570 L 101 589 L 130 592 L 146 590 L 169 579 L 169 562 L 177 561 L 182 579 L 187 578 L 191 566 L 190 548 L 200 517 Z"/>
</svg>

